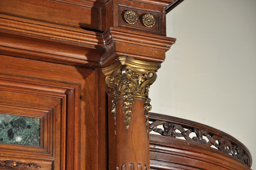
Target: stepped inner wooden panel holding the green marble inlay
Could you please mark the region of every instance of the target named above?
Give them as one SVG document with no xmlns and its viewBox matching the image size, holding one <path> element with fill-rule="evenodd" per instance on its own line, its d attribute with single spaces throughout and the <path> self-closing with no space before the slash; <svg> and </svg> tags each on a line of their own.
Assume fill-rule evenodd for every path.
<svg viewBox="0 0 256 170">
<path fill-rule="evenodd" d="M 38 120 L 38 125 L 40 124 L 37 146 L 22 145 L 17 141 L 0 143 L 0 161 L 2 162 L 0 169 L 62 169 L 65 167 L 60 164 L 61 160 L 65 161 L 65 157 L 61 155 L 65 155 L 66 137 L 66 114 L 61 113 L 62 101 L 63 98 L 59 97 L 32 94 L 32 91 L 29 93 L 28 90 L 24 93 L 21 89 L 0 86 L 1 125 L 4 124 L 8 128 L 9 123 L 11 124 L 7 130 L 9 135 L 7 140 L 16 141 L 18 138 L 22 142 L 26 137 L 35 135 L 29 131 L 31 125 L 27 125 L 26 120 Z M 15 134 L 14 131 L 31 132 L 31 134 L 15 136 L 20 132 Z"/>
</svg>

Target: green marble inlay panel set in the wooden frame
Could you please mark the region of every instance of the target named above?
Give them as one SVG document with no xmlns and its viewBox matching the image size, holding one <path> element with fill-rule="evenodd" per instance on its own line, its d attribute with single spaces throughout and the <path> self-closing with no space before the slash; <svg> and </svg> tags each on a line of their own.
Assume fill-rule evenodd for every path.
<svg viewBox="0 0 256 170">
<path fill-rule="evenodd" d="M 40 146 L 40 119 L 0 114 L 0 143 Z"/>
</svg>

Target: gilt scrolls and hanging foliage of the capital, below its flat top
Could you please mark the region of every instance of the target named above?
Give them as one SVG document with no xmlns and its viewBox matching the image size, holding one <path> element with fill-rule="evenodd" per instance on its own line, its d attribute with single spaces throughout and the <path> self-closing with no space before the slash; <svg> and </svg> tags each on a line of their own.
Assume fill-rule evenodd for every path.
<svg viewBox="0 0 256 170">
<path fill-rule="evenodd" d="M 122 100 L 123 114 L 125 114 L 125 128 L 129 128 L 132 119 L 131 105 L 135 103 L 134 98 L 143 99 L 145 101 L 145 117 L 148 131 L 148 111 L 151 110 L 148 98 L 149 86 L 156 80 L 157 74 L 155 71 L 148 71 L 138 67 L 129 67 L 123 65 L 120 69 L 112 72 L 106 77 L 106 83 L 114 90 L 114 101 L 112 113 L 114 113 L 116 123 L 116 106 L 115 103 Z"/>
</svg>

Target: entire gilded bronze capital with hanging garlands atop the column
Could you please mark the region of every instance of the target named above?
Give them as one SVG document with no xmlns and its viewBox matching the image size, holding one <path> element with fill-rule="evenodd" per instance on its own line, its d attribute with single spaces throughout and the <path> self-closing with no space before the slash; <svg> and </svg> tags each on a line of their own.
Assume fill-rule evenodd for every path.
<svg viewBox="0 0 256 170">
<path fill-rule="evenodd" d="M 103 69 L 103 73 L 107 76 L 105 82 L 114 91 L 112 113 L 115 114 L 115 123 L 115 103 L 123 101 L 123 114 L 125 114 L 124 123 L 126 129 L 128 129 L 132 119 L 131 105 L 135 103 L 134 99 L 140 99 L 145 101 L 144 108 L 148 131 L 148 111 L 151 110 L 148 89 L 156 80 L 156 71 L 159 68 L 160 64 L 158 62 L 144 62 L 130 57 L 119 57 L 117 63 Z"/>
</svg>

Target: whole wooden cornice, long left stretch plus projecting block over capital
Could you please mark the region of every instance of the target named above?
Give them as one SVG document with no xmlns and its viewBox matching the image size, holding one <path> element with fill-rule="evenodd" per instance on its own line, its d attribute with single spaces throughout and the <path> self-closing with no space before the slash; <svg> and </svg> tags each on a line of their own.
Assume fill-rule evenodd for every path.
<svg viewBox="0 0 256 170">
<path fill-rule="evenodd" d="M 119 56 L 161 63 L 176 40 L 114 27 L 97 33 L 3 14 L 0 38 L 2 55 L 93 69 L 107 67 Z"/>
</svg>

